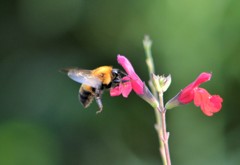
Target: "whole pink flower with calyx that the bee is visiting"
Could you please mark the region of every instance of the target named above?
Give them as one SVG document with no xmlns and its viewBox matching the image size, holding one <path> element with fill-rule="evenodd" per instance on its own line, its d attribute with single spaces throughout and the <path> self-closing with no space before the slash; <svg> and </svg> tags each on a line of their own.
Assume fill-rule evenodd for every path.
<svg viewBox="0 0 240 165">
<path fill-rule="evenodd" d="M 117 56 L 117 61 L 124 68 L 127 76 L 122 78 L 122 83 L 110 89 L 110 95 L 119 96 L 122 94 L 123 97 L 127 98 L 130 92 L 133 90 L 139 97 L 148 102 L 152 107 L 158 107 L 158 101 L 149 91 L 145 83 L 136 74 L 130 61 L 122 55 Z"/>
</svg>

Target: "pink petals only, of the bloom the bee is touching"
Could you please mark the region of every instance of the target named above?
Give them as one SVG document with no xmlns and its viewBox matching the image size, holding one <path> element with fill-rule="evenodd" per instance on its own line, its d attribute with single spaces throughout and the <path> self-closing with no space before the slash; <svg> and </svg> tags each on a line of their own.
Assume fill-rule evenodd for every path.
<svg viewBox="0 0 240 165">
<path fill-rule="evenodd" d="M 128 97 L 132 90 L 134 90 L 134 92 L 137 93 L 138 95 L 142 95 L 144 93 L 144 83 L 135 73 L 132 64 L 126 57 L 121 55 L 117 56 L 117 61 L 128 74 L 128 76 L 123 77 L 122 80 L 129 81 L 120 83 L 119 86 L 112 88 L 110 90 L 110 95 L 119 96 L 122 94 L 123 97 Z"/>
</svg>

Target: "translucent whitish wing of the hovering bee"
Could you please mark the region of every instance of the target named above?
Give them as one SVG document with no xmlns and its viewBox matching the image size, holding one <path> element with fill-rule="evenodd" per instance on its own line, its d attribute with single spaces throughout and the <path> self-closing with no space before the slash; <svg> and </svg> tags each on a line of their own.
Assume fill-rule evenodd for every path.
<svg viewBox="0 0 240 165">
<path fill-rule="evenodd" d="M 61 71 L 66 72 L 68 77 L 81 84 L 86 84 L 94 88 L 99 88 L 102 84 L 98 77 L 92 75 L 91 70 L 67 68 Z"/>
</svg>

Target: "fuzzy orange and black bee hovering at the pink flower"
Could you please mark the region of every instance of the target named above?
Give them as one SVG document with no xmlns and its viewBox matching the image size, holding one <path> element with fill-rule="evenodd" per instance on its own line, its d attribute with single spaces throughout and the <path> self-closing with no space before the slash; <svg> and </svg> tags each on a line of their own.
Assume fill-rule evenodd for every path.
<svg viewBox="0 0 240 165">
<path fill-rule="evenodd" d="M 112 66 L 100 66 L 94 70 L 85 70 L 78 68 L 65 68 L 61 70 L 74 81 L 81 83 L 78 98 L 84 108 L 87 108 L 95 98 L 99 110 L 103 109 L 101 96 L 104 89 L 118 86 L 122 77 L 127 74 Z"/>
</svg>

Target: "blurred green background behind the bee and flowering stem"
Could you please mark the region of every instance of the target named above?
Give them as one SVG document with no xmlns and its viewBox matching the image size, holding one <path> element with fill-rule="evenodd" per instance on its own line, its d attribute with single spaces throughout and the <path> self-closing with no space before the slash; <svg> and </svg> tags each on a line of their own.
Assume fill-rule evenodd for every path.
<svg viewBox="0 0 240 165">
<path fill-rule="evenodd" d="M 172 164 L 240 162 L 240 1 L 1 0 L 0 164 L 159 165 L 155 117 L 132 93 L 104 93 L 83 109 L 79 84 L 58 72 L 129 58 L 148 81 L 142 39 L 153 40 L 158 74 L 171 74 L 169 100 L 203 71 L 224 98 L 206 117 L 193 104 L 170 110 Z"/>
</svg>

